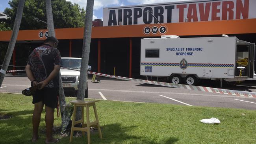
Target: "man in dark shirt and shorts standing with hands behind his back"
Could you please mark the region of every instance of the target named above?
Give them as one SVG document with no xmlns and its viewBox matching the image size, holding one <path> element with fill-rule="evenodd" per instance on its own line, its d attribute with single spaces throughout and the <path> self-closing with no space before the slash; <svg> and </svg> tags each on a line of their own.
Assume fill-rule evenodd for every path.
<svg viewBox="0 0 256 144">
<path fill-rule="evenodd" d="M 45 105 L 46 140 L 45 143 L 54 143 L 58 139 L 52 137 L 54 123 L 54 108 L 58 104 L 59 69 L 61 56 L 57 50 L 59 41 L 55 37 L 47 37 L 44 44 L 35 48 L 28 58 L 26 74 L 31 85 L 37 90 L 33 94 L 34 111 L 32 117 L 32 142 L 38 140 L 38 128 L 41 113 Z"/>
</svg>

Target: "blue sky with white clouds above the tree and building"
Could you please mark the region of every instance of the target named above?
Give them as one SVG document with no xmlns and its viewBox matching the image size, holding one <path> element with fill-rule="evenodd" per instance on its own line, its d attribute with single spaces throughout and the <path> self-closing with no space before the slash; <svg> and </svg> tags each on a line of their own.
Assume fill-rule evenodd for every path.
<svg viewBox="0 0 256 144">
<path fill-rule="evenodd" d="M 76 3 L 86 9 L 87 0 L 67 0 Z M 93 19 L 103 19 L 103 7 L 131 6 L 139 4 L 156 4 L 162 2 L 178 2 L 187 0 L 94 0 Z M 0 12 L 2 13 L 6 7 L 10 7 L 9 0 L 0 0 Z"/>
</svg>

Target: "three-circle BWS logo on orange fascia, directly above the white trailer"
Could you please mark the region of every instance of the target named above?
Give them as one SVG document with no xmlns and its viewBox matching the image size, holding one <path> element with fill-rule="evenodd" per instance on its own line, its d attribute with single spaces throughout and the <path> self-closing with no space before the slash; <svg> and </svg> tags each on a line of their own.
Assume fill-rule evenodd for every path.
<svg viewBox="0 0 256 144">
<path fill-rule="evenodd" d="M 143 33 L 145 35 L 156 35 L 156 34 L 160 34 L 163 35 L 167 32 L 167 26 L 165 25 L 161 25 L 161 26 L 145 26 L 143 28 Z"/>
</svg>

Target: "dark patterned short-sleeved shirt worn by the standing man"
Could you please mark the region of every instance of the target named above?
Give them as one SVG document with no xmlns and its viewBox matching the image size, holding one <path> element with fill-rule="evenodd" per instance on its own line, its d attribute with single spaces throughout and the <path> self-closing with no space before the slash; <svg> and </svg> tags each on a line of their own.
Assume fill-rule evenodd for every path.
<svg viewBox="0 0 256 144">
<path fill-rule="evenodd" d="M 38 82 L 45 80 L 54 69 L 54 65 L 60 65 L 60 63 L 59 50 L 49 44 L 35 48 L 28 57 L 28 65 L 30 65 L 32 74 Z M 55 87 L 59 87 L 59 74 L 45 86 L 45 88 Z"/>
</svg>

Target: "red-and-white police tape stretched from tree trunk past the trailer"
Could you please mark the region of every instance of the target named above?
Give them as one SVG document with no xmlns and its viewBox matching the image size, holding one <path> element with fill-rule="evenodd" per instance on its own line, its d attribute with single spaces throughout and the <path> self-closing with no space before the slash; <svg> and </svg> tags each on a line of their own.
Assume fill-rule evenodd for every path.
<svg viewBox="0 0 256 144">
<path fill-rule="evenodd" d="M 165 87 L 175 87 L 180 89 L 189 89 L 189 90 L 196 90 L 196 91 L 203 91 L 203 92 L 212 92 L 217 94 L 226 94 L 226 95 L 232 95 L 232 96 L 243 96 L 243 97 L 252 97 L 256 98 L 256 92 L 246 92 L 246 91 L 239 91 L 239 90 L 228 90 L 228 89 L 218 89 L 218 88 L 212 88 L 212 87 L 201 87 L 201 86 L 194 86 L 194 85 L 182 85 L 182 84 L 174 84 L 174 83 L 165 83 L 165 82 L 159 82 L 159 81 L 148 81 L 143 79 L 134 79 L 134 78 L 126 78 L 121 76 L 113 76 L 109 74 L 102 74 L 97 72 L 89 72 L 88 74 L 95 74 L 97 76 L 104 76 L 108 78 L 115 78 L 115 79 L 123 79 L 127 81 L 137 81 L 141 83 L 148 83 L 152 85 L 161 85 Z"/>
</svg>

